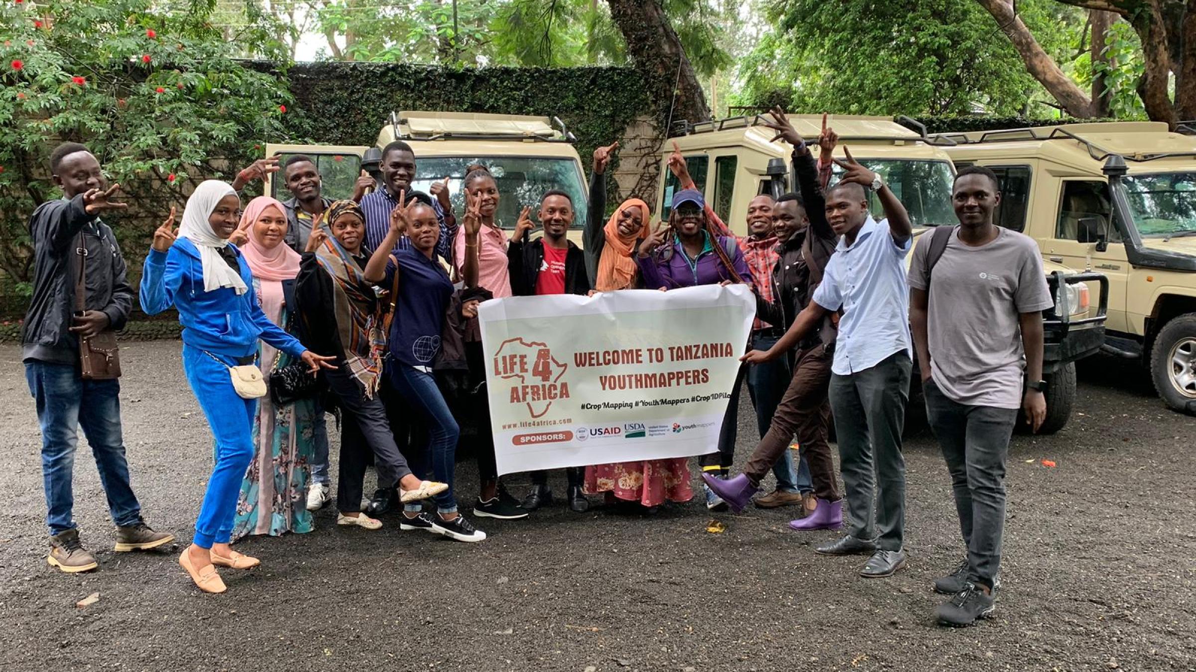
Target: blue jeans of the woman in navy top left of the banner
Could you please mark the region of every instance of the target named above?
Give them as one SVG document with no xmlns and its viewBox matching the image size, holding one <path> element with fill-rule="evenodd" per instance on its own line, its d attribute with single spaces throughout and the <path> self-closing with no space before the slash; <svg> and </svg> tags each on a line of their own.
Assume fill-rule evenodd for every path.
<svg viewBox="0 0 1196 672">
<path fill-rule="evenodd" d="M 427 478 L 428 463 L 437 481 L 447 483 L 448 489 L 437 495 L 437 511 L 456 513 L 457 499 L 453 495 L 453 472 L 457 469 L 457 439 L 460 428 L 453 420 L 452 411 L 445 402 L 437 380 L 431 373 L 425 373 L 405 364 L 391 361 L 386 366 L 390 384 L 427 423 L 428 445 L 423 451 L 411 451 L 409 464 L 411 472 L 420 478 Z M 420 505 L 407 505 L 407 511 L 420 511 Z"/>
</svg>

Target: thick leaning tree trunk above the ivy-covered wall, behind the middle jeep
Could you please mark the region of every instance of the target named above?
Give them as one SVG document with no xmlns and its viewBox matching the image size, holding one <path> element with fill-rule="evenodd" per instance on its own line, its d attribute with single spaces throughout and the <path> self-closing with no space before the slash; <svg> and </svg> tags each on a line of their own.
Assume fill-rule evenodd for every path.
<svg viewBox="0 0 1196 672">
<path fill-rule="evenodd" d="M 665 121 L 710 118 L 702 85 L 658 0 L 606 0 L 627 54 L 643 75 L 648 93 L 663 105 Z M 667 133 L 669 129 L 665 129 Z"/>
</svg>

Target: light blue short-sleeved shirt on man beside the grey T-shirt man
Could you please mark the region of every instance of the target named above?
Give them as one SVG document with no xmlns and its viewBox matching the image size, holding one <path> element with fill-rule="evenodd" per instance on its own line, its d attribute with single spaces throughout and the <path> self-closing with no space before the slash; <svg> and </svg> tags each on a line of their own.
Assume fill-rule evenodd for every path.
<svg viewBox="0 0 1196 672">
<path fill-rule="evenodd" d="M 840 238 L 813 295 L 813 301 L 829 311 L 843 308 L 831 372 L 850 375 L 902 350 L 913 359 L 905 285 L 911 240 L 898 244 L 889 221 L 872 215 L 853 244 Z"/>
</svg>

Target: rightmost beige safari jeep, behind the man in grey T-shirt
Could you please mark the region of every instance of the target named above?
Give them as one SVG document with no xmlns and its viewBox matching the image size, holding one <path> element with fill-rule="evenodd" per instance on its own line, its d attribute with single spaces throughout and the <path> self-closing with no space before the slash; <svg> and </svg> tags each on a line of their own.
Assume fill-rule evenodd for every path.
<svg viewBox="0 0 1196 672">
<path fill-rule="evenodd" d="M 1152 122 L 935 136 L 1001 177 L 1001 224 L 1051 263 L 1109 279 L 1104 352 L 1139 360 L 1196 414 L 1196 138 Z"/>
</svg>

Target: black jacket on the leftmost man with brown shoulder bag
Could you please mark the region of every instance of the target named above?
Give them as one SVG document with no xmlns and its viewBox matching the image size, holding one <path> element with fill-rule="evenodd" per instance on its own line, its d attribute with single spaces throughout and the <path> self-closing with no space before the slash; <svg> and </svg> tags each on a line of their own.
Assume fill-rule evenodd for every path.
<svg viewBox="0 0 1196 672">
<path fill-rule="evenodd" d="M 83 196 L 47 201 L 29 219 L 33 240 L 33 298 L 20 332 L 22 359 L 71 364 L 79 360 L 79 341 L 68 331 L 75 310 L 79 265 L 78 237 L 86 250 L 85 308 L 108 314 L 120 330 L 133 310 L 133 288 L 124 257 L 106 224 L 84 209 Z"/>
</svg>

